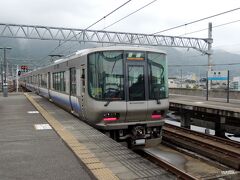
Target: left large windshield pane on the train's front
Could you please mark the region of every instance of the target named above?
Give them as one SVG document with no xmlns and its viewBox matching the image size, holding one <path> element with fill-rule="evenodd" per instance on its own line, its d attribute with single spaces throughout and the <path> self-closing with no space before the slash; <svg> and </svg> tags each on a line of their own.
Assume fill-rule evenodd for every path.
<svg viewBox="0 0 240 180">
<path fill-rule="evenodd" d="M 89 94 L 99 100 L 124 100 L 123 51 L 89 55 Z"/>
</svg>

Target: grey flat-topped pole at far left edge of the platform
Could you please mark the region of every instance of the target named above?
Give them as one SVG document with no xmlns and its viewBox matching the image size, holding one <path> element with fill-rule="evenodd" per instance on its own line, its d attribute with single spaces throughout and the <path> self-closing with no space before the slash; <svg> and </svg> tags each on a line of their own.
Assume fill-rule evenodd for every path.
<svg viewBox="0 0 240 180">
<path fill-rule="evenodd" d="M 3 49 L 3 97 L 8 96 L 8 83 L 7 83 L 7 59 L 6 59 L 6 50 L 12 49 L 10 47 L 0 47 Z"/>
</svg>

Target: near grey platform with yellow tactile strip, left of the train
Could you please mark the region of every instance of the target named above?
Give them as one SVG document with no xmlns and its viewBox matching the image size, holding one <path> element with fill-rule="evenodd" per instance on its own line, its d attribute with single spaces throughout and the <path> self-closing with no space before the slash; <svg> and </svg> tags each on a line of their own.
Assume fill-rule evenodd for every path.
<svg viewBox="0 0 240 180">
<path fill-rule="evenodd" d="M 1 179 L 176 179 L 35 94 L 0 97 L 0 117 Z"/>
</svg>

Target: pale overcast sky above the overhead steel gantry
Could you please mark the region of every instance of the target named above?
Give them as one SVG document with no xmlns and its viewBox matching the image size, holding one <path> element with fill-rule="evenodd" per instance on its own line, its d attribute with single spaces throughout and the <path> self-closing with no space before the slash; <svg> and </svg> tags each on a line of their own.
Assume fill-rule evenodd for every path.
<svg viewBox="0 0 240 180">
<path fill-rule="evenodd" d="M 6 0 L 1 2 L 0 23 L 86 28 L 127 0 Z M 152 0 L 132 0 L 91 29 L 103 29 Z M 239 0 L 157 0 L 106 30 L 155 33 L 224 11 L 239 8 Z M 201 21 L 164 35 L 183 35 L 240 20 L 240 10 Z M 208 32 L 188 34 L 207 37 Z M 213 29 L 214 48 L 240 53 L 240 21 Z"/>
</svg>

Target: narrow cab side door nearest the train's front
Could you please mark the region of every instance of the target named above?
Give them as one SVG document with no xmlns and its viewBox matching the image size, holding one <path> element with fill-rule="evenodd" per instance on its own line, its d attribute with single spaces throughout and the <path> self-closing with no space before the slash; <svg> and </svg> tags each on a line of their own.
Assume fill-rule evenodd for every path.
<svg viewBox="0 0 240 180">
<path fill-rule="evenodd" d="M 86 67 L 82 64 L 80 67 L 80 118 L 85 119 L 86 106 Z"/>
</svg>

